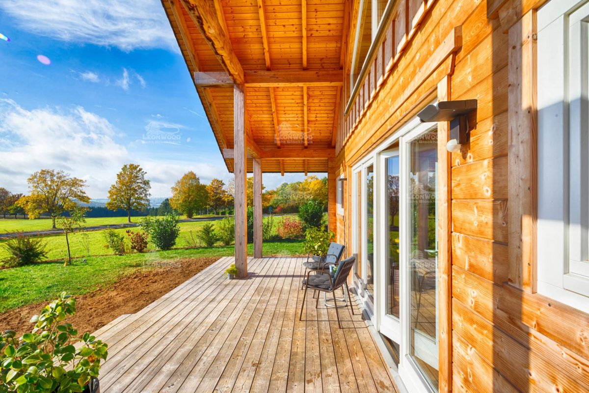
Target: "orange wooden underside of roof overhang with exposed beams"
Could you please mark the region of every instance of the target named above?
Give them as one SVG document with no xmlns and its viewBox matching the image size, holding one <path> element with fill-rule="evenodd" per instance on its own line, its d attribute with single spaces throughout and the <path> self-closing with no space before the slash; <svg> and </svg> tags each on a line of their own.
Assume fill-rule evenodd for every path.
<svg viewBox="0 0 589 393">
<path fill-rule="evenodd" d="M 263 172 L 327 171 L 348 2 L 162 0 L 230 172 L 233 83 L 245 86 L 248 157 L 260 158 Z"/>
</svg>

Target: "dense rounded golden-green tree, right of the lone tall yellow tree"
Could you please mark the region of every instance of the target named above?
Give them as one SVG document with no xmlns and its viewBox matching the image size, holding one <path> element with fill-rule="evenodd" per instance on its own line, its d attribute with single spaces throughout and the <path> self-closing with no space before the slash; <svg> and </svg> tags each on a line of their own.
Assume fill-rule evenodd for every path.
<svg viewBox="0 0 589 393">
<path fill-rule="evenodd" d="M 193 171 L 187 172 L 176 181 L 172 187 L 170 205 L 188 218 L 194 216 L 194 212 L 207 206 L 209 193 L 207 187 L 200 183 L 200 179 Z"/>
</svg>

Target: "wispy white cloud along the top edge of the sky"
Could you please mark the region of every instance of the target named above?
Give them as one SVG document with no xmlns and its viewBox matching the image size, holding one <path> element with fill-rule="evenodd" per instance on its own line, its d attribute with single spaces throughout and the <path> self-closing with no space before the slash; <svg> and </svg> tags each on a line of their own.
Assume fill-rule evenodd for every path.
<svg viewBox="0 0 589 393">
<path fill-rule="evenodd" d="M 2 1 L 0 9 L 21 28 L 61 41 L 179 50 L 158 0 L 19 0 Z"/>
</svg>

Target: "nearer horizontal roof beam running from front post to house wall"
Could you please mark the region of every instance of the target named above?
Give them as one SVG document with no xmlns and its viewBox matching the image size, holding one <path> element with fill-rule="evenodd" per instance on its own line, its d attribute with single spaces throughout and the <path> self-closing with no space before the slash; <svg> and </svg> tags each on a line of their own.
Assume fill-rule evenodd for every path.
<svg viewBox="0 0 589 393">
<path fill-rule="evenodd" d="M 247 87 L 342 86 L 341 70 L 245 71 Z"/>
</svg>

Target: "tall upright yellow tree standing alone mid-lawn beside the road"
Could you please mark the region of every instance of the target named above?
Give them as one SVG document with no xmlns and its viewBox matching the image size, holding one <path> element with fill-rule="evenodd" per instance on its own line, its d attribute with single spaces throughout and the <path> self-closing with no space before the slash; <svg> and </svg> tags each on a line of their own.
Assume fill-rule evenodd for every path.
<svg viewBox="0 0 589 393">
<path fill-rule="evenodd" d="M 149 206 L 150 181 L 147 173 L 137 164 L 125 164 L 117 174 L 117 181 L 108 190 L 107 207 L 110 210 L 127 210 L 131 222 L 131 210 L 143 210 Z"/>
</svg>

